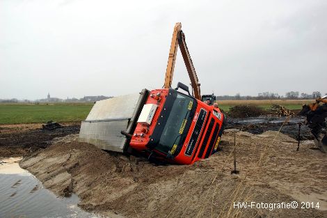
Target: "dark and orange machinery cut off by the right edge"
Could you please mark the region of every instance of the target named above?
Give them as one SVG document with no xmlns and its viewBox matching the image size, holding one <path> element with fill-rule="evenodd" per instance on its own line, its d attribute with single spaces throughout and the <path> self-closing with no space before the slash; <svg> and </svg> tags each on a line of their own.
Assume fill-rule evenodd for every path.
<svg viewBox="0 0 327 218">
<path fill-rule="evenodd" d="M 327 153 L 327 95 L 312 104 L 303 104 L 299 114 L 306 116 L 305 125 L 311 129 L 316 146 Z"/>
</svg>

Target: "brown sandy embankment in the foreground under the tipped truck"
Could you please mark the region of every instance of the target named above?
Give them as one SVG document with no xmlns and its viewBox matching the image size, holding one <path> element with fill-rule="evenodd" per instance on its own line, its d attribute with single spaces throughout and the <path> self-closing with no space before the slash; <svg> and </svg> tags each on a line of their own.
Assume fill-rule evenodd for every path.
<svg viewBox="0 0 327 218">
<path fill-rule="evenodd" d="M 237 134 L 237 167 L 231 175 L 233 134 L 221 150 L 192 166 L 154 166 L 145 159 L 106 153 L 77 136 L 66 137 L 20 165 L 52 192 L 81 198 L 81 207 L 125 217 L 326 217 L 326 155 L 285 135 Z M 319 201 L 316 209 L 237 209 L 234 202 Z M 301 203 L 299 203 L 301 207 Z"/>
</svg>

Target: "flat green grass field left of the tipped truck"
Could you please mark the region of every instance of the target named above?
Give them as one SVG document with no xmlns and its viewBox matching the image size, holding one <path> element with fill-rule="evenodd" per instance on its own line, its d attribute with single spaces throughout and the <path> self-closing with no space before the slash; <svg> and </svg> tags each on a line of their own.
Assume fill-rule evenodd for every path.
<svg viewBox="0 0 327 218">
<path fill-rule="evenodd" d="M 93 103 L 0 104 L 0 124 L 79 122 Z"/>
</svg>

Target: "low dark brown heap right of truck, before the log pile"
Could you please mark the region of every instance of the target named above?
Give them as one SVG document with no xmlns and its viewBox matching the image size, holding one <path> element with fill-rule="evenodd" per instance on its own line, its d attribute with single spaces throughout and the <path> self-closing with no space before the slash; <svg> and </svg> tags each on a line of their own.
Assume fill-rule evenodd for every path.
<svg viewBox="0 0 327 218">
<path fill-rule="evenodd" d="M 234 118 L 256 117 L 264 114 L 266 114 L 266 112 L 255 105 L 237 105 L 231 107 L 228 111 L 228 116 Z"/>
</svg>

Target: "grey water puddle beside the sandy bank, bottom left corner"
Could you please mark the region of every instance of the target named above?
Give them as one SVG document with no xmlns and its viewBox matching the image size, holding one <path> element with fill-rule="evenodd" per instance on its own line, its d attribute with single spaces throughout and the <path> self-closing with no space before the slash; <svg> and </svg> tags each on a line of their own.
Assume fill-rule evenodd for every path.
<svg viewBox="0 0 327 218">
<path fill-rule="evenodd" d="M 99 217 L 77 206 L 79 198 L 58 198 L 29 171 L 22 158 L 0 158 L 0 217 Z"/>
</svg>

